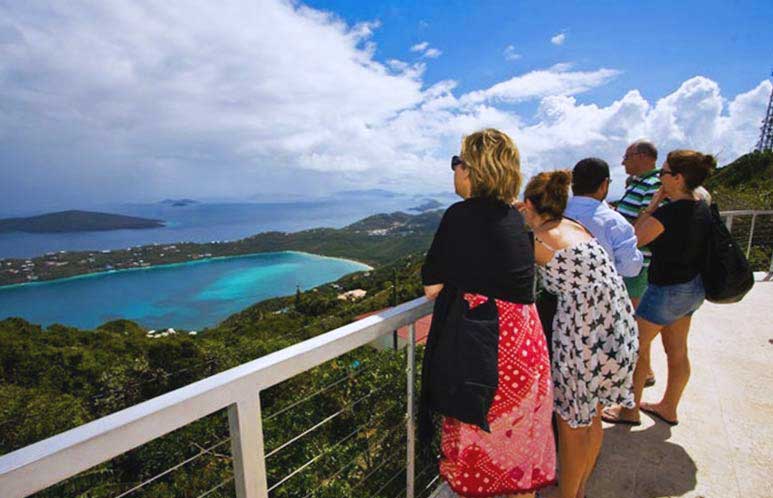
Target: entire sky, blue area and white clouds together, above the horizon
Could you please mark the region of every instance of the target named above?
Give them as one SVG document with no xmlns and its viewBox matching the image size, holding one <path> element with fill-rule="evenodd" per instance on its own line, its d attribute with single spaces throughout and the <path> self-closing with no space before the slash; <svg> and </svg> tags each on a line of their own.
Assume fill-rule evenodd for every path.
<svg viewBox="0 0 773 498">
<path fill-rule="evenodd" d="M 168 197 L 450 188 L 494 126 L 525 176 L 637 138 L 726 163 L 773 2 L 0 0 L 0 217 Z M 615 182 L 622 185 L 622 182 Z"/>
</svg>

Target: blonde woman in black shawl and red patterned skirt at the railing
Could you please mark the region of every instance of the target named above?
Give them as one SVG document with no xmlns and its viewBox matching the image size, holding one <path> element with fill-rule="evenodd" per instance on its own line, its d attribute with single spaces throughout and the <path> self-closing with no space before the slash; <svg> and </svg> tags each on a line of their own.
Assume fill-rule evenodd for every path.
<svg viewBox="0 0 773 498">
<path fill-rule="evenodd" d="M 490 391 L 484 424 L 490 432 L 444 418 L 440 475 L 460 496 L 533 497 L 555 480 L 553 395 L 533 304 L 534 252 L 523 217 L 513 207 L 521 184 L 518 148 L 501 131 L 483 130 L 464 138 L 451 168 L 456 193 L 464 200 L 444 214 L 422 268 L 426 295 L 438 298 L 425 366 L 437 324 L 442 327 L 446 319 L 438 305 L 461 293 L 473 314 L 495 304 L 498 349 L 477 370 L 493 368 L 498 385 Z M 425 376 L 432 376 L 426 368 L 423 381 Z M 439 395 L 427 394 L 429 399 Z"/>
</svg>

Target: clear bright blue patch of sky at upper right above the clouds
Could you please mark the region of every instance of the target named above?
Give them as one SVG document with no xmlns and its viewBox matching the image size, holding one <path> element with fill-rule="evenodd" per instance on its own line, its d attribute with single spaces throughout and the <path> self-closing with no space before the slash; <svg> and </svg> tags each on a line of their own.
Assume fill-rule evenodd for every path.
<svg viewBox="0 0 773 498">
<path fill-rule="evenodd" d="M 647 99 L 695 75 L 723 91 L 749 89 L 773 69 L 773 2 L 361 2 L 310 1 L 349 23 L 378 19 L 377 58 L 410 59 L 427 41 L 443 51 L 425 81 L 453 78 L 462 92 L 573 61 L 622 75 L 578 98 L 607 105 L 630 88 Z M 550 39 L 565 33 L 563 44 Z M 521 57 L 507 62 L 512 45 Z"/>
</svg>

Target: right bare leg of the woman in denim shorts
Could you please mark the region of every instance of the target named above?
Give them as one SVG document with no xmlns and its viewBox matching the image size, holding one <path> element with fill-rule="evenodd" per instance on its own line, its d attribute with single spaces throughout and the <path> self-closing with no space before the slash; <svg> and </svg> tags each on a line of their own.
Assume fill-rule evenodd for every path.
<svg viewBox="0 0 773 498">
<path fill-rule="evenodd" d="M 690 379 L 690 359 L 687 355 L 687 334 L 691 317 L 685 316 L 663 328 L 663 348 L 668 358 L 668 384 L 663 399 L 647 407 L 658 412 L 666 420 L 676 421 L 679 400 Z"/>
</svg>

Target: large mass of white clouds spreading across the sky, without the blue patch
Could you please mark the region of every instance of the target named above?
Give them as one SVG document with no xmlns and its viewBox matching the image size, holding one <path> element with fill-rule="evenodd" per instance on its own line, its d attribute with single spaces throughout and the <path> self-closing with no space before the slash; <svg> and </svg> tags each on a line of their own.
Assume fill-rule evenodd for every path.
<svg viewBox="0 0 773 498">
<path fill-rule="evenodd" d="M 527 175 L 594 155 L 620 177 L 641 137 L 727 162 L 754 146 L 770 94 L 696 76 L 600 106 L 576 97 L 619 71 L 568 64 L 461 93 L 424 81 L 428 42 L 420 62 L 379 61 L 377 29 L 279 0 L 0 4 L 0 209 L 450 189 L 448 158 L 486 126 Z"/>
</svg>

